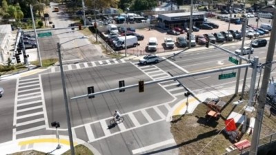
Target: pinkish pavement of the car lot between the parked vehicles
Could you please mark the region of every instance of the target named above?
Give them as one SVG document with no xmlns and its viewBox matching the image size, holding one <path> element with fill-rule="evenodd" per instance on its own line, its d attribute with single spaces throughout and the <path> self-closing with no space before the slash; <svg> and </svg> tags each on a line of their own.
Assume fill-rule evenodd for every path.
<svg viewBox="0 0 276 155">
<path fill-rule="evenodd" d="M 221 20 L 215 19 L 215 18 L 213 18 L 213 19 L 208 18 L 208 21 L 217 23 L 219 25 L 219 28 L 213 29 L 213 30 L 199 30 L 199 32 L 193 32 L 193 34 L 197 35 L 197 34 L 214 33 L 214 32 L 221 32 L 221 31 L 228 30 L 229 23 L 226 23 L 225 21 L 221 21 Z M 271 21 L 270 21 L 270 19 L 261 19 L 259 21 L 259 25 L 261 25 L 261 23 L 271 23 Z M 248 19 L 248 25 L 257 25 L 256 18 Z M 242 24 L 236 25 L 236 24 L 230 23 L 230 30 L 241 30 L 241 29 L 242 29 Z M 146 47 L 148 44 L 148 39 L 150 37 L 157 38 L 157 41 L 158 41 L 157 53 L 172 51 L 172 50 L 164 49 L 164 47 L 163 47 L 164 37 L 171 37 L 174 41 L 179 36 L 186 37 L 186 33 L 180 34 L 179 36 L 175 36 L 175 35 L 166 34 L 166 30 L 162 30 L 159 28 L 154 29 L 154 30 L 148 30 L 148 28 L 144 28 L 144 29 L 136 30 L 136 32 L 138 34 L 143 34 L 145 38 L 143 41 L 139 41 L 139 43 L 140 43 L 139 46 L 137 46 L 135 48 L 128 48 L 127 49 L 128 54 L 135 54 L 135 55 L 147 54 Z M 248 39 L 248 38 L 246 38 L 246 39 Z M 199 47 L 199 46 L 202 46 L 202 45 L 197 45 L 196 47 Z M 184 48 L 178 48 L 177 45 L 175 45 L 175 48 L 173 50 L 181 50 L 181 49 L 184 49 Z M 121 52 L 125 52 L 125 51 L 121 50 Z"/>
</svg>

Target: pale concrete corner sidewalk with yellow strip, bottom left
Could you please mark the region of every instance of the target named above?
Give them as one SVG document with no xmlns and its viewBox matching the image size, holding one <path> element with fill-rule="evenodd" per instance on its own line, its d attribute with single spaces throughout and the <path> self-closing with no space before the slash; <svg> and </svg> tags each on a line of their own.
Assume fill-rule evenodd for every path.
<svg viewBox="0 0 276 155">
<path fill-rule="evenodd" d="M 28 150 L 37 150 L 39 152 L 45 152 L 49 154 L 63 154 L 70 149 L 70 142 L 68 136 L 59 136 L 59 143 L 56 135 L 46 136 L 32 136 L 29 138 L 21 138 L 15 141 L 9 141 L 0 144 L 1 154 L 13 154 L 16 152 L 23 152 Z M 74 146 L 84 145 L 93 152 L 95 155 L 100 155 L 97 149 L 92 147 L 89 143 L 82 141 L 78 138 L 74 138 Z M 57 149 L 57 146 L 60 148 Z"/>
</svg>

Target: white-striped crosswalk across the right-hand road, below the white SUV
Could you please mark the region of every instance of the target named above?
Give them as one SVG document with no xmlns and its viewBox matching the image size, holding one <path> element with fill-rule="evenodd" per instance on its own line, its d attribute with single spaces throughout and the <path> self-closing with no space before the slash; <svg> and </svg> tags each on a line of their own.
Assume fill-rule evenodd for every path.
<svg viewBox="0 0 276 155">
<path fill-rule="evenodd" d="M 159 80 L 171 77 L 170 74 L 158 68 L 157 65 L 139 65 L 138 63 L 133 63 L 139 70 L 148 75 L 152 80 Z M 164 81 L 159 83 L 161 87 L 164 88 L 169 94 L 175 97 L 184 96 L 186 90 L 181 87 L 177 81 Z"/>
</svg>

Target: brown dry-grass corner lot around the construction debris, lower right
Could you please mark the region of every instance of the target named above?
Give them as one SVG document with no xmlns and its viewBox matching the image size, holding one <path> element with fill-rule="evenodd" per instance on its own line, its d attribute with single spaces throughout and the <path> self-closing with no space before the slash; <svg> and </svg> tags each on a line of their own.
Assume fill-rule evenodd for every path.
<svg viewBox="0 0 276 155">
<path fill-rule="evenodd" d="M 221 98 L 221 101 L 226 102 L 226 106 L 222 110 L 221 118 L 218 121 L 205 118 L 208 107 L 204 104 L 199 104 L 193 114 L 174 116 L 170 130 L 177 147 L 179 147 L 179 154 L 224 154 L 226 148 L 233 145 L 228 137 L 221 132 L 225 127 L 224 121 L 231 112 L 243 114 L 243 107 L 247 104 L 244 102 L 240 105 L 233 105 L 233 101 L 239 100 L 239 97 L 238 95 Z M 248 96 L 244 96 L 244 100 L 248 100 Z M 256 105 L 255 108 L 257 108 Z M 269 111 L 265 110 L 261 138 L 276 132 L 276 117 L 270 116 L 268 118 L 269 115 Z M 255 112 L 253 112 L 253 116 L 255 116 Z M 241 133 L 242 124 L 236 123 L 236 125 L 237 130 Z M 252 135 L 245 133 L 240 140 L 248 139 L 248 141 L 251 141 L 251 138 Z"/>
</svg>

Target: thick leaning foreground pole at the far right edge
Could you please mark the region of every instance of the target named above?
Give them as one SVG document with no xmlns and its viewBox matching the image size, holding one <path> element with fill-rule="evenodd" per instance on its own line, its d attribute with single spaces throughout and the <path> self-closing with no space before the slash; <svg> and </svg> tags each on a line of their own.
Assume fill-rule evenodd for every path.
<svg viewBox="0 0 276 155">
<path fill-rule="evenodd" d="M 276 9 L 274 10 L 274 14 L 276 14 Z M 273 21 L 276 20 L 276 16 L 274 15 Z M 270 78 L 270 72 L 273 62 L 274 50 L 275 50 L 275 42 L 276 42 L 276 22 L 273 22 L 272 32 L 270 35 L 270 41 L 268 44 L 268 52 L 266 54 L 266 65 L 264 65 L 264 76 L 262 81 L 261 90 L 259 92 L 259 104 L 257 107 L 257 113 L 255 117 L 255 125 L 253 130 L 253 136 L 251 141 L 251 147 L 249 155 L 255 155 L 258 151 L 259 145 L 259 136 L 262 130 L 262 121 L 264 116 L 264 105 L 266 104 L 266 93 L 268 88 L 268 81 Z"/>
</svg>

